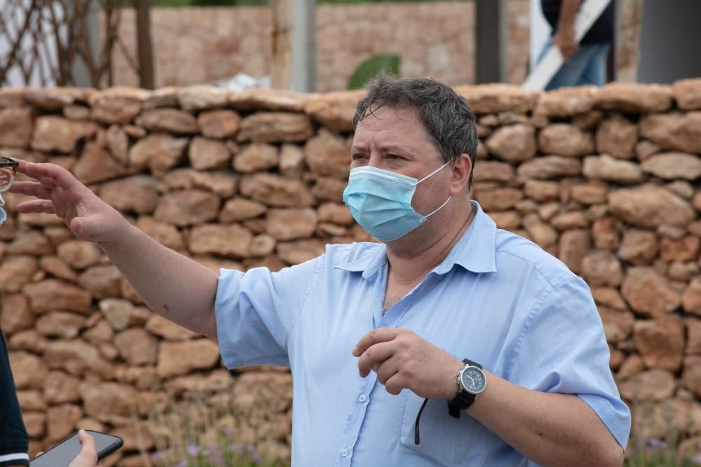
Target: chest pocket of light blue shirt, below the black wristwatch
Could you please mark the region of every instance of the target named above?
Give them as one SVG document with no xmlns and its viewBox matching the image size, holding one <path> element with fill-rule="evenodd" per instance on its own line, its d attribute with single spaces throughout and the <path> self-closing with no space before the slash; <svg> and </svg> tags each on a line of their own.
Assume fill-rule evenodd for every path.
<svg viewBox="0 0 701 467">
<path fill-rule="evenodd" d="M 419 421 L 421 443 L 414 442 L 416 415 L 422 403 L 423 398 L 409 392 L 402 417 L 402 446 L 441 466 L 468 466 L 477 461 L 479 449 L 471 442 L 477 421 L 465 412 L 461 412 L 459 419 L 451 417 L 447 399 L 428 400 Z"/>
</svg>

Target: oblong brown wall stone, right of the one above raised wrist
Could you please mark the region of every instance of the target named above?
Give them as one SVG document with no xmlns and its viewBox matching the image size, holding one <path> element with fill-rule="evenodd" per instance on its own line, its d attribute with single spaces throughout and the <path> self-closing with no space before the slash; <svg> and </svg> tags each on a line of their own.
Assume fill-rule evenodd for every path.
<svg viewBox="0 0 701 467">
<path fill-rule="evenodd" d="M 158 200 L 154 218 L 178 227 L 203 224 L 217 218 L 219 204 L 219 197 L 207 191 L 175 191 Z"/>
</svg>

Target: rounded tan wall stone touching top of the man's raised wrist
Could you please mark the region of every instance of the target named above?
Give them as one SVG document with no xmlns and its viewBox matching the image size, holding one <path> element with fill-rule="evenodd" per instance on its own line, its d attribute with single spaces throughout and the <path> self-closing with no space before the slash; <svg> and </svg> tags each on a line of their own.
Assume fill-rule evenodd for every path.
<svg viewBox="0 0 701 467">
<path fill-rule="evenodd" d="M 158 204 L 156 179 L 136 175 L 103 183 L 98 195 L 114 209 L 122 212 L 150 214 Z"/>
</svg>

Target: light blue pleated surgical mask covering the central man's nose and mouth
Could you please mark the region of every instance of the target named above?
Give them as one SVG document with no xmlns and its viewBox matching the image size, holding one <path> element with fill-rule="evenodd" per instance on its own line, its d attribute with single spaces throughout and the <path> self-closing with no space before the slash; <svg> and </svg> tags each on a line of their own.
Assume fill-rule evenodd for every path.
<svg viewBox="0 0 701 467">
<path fill-rule="evenodd" d="M 391 242 L 407 235 L 437 213 L 450 197 L 432 213 L 422 216 L 411 207 L 416 185 L 439 172 L 444 165 L 421 180 L 376 167 L 351 169 L 343 202 L 351 209 L 355 221 L 381 242 Z"/>
</svg>

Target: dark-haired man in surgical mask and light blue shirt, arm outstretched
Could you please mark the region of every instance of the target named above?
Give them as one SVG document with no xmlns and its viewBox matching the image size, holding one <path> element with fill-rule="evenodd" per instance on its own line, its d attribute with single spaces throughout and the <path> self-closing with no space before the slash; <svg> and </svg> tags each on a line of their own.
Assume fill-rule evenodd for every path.
<svg viewBox="0 0 701 467">
<path fill-rule="evenodd" d="M 277 273 L 217 276 L 60 167 L 22 162 L 39 181 L 13 190 L 98 242 L 156 312 L 218 337 L 229 368 L 289 365 L 295 466 L 620 466 L 629 411 L 590 291 L 470 202 L 465 99 L 381 77 L 354 125 L 344 198 L 383 243 Z"/>
</svg>

